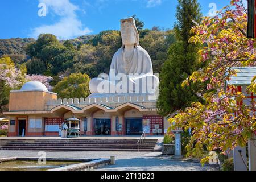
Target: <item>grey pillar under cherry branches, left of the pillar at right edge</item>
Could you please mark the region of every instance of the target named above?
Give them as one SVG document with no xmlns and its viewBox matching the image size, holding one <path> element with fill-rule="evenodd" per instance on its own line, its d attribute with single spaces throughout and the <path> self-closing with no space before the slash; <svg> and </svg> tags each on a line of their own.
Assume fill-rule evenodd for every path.
<svg viewBox="0 0 256 182">
<path fill-rule="evenodd" d="M 242 155 L 242 156 L 241 156 Z M 237 146 L 233 151 L 234 171 L 247 171 L 246 148 Z"/>
</svg>

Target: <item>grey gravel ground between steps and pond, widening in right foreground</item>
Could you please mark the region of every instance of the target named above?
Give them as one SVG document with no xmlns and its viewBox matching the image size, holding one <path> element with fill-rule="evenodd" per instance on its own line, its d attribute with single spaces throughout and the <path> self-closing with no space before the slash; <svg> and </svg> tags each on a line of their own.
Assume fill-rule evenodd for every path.
<svg viewBox="0 0 256 182">
<path fill-rule="evenodd" d="M 110 158 L 115 156 L 116 164 L 98 170 L 106 171 L 207 171 L 214 170 L 209 166 L 201 167 L 200 163 L 170 160 L 168 156 L 147 158 L 142 155 L 148 152 L 46 152 L 48 158 Z M 38 152 L 31 151 L 0 151 L 0 158 L 5 157 L 38 157 Z"/>
</svg>

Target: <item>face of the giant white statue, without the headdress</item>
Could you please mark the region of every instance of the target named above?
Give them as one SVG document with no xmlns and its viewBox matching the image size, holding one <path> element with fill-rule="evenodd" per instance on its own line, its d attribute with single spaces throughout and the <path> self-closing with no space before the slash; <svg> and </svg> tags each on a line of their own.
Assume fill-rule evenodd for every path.
<svg viewBox="0 0 256 182">
<path fill-rule="evenodd" d="M 125 46 L 133 46 L 136 43 L 135 32 L 131 22 L 122 23 L 121 36 Z"/>
</svg>

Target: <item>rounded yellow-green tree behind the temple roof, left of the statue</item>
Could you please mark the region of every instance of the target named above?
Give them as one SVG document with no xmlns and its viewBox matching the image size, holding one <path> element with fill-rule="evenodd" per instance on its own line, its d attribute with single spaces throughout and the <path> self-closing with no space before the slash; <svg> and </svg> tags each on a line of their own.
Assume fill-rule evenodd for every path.
<svg viewBox="0 0 256 182">
<path fill-rule="evenodd" d="M 69 77 L 63 78 L 53 92 L 58 94 L 59 98 L 81 98 L 88 97 L 90 78 L 86 74 L 72 73 Z"/>
</svg>

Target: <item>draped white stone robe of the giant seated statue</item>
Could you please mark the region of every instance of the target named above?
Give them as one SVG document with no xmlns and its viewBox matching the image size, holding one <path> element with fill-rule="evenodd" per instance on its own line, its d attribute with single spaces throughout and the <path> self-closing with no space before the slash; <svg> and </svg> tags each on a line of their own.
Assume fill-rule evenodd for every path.
<svg viewBox="0 0 256 182">
<path fill-rule="evenodd" d="M 136 90 L 136 86 L 130 88 L 128 85 L 135 84 L 139 82 L 139 93 L 142 93 L 142 90 L 146 88 L 146 93 L 155 93 L 156 89 L 159 85 L 158 77 L 154 76 L 152 61 L 150 55 L 148 55 L 147 51 L 143 49 L 141 46 L 137 46 L 134 48 L 133 58 L 129 63 L 125 63 L 125 59 L 123 57 L 123 47 L 120 48 L 113 56 L 112 64 L 110 66 L 110 75 L 108 80 L 102 80 L 101 78 L 94 78 L 90 81 L 90 92 L 93 94 L 96 93 L 106 93 L 98 87 L 99 84 L 109 85 L 110 88 L 115 88 L 115 85 L 118 84 L 118 81 L 112 80 L 111 74 L 123 74 L 129 77 L 127 80 L 126 93 L 138 93 L 138 87 Z M 114 72 L 112 72 L 112 70 Z M 115 77 L 114 77 L 115 78 Z M 144 79 L 144 81 L 143 81 Z M 150 80 L 150 81 L 149 81 Z M 129 84 L 128 84 L 129 83 Z M 150 88 L 150 90 L 148 90 Z M 107 91 L 108 93 L 112 93 Z M 143 91 L 144 93 L 145 91 Z"/>
</svg>

